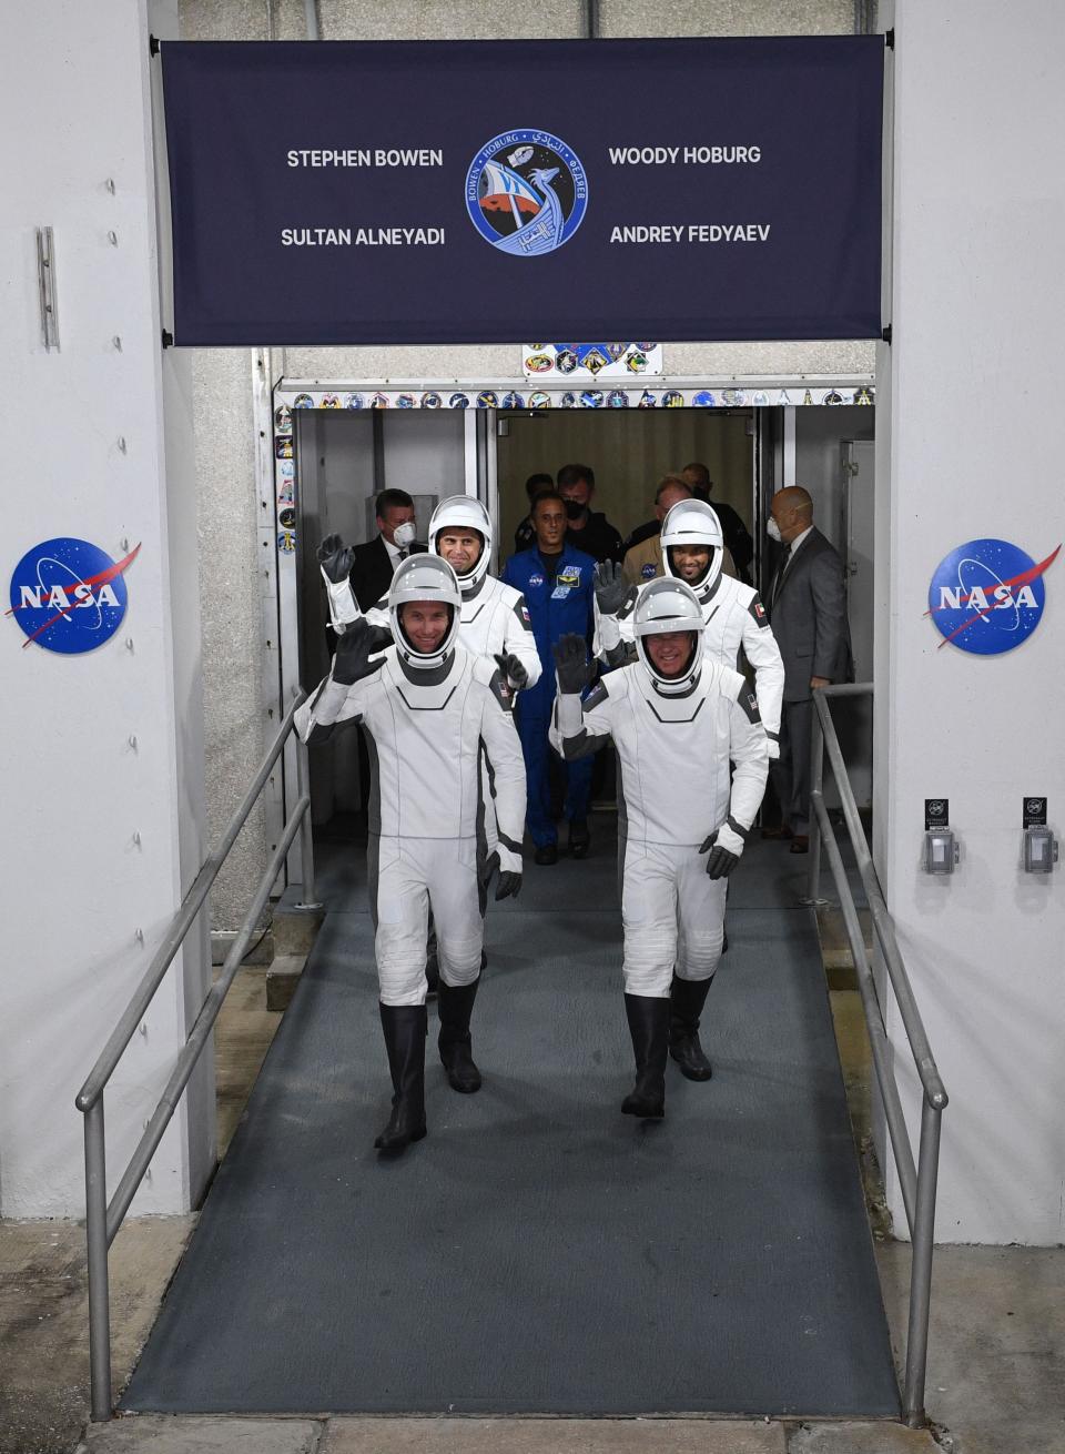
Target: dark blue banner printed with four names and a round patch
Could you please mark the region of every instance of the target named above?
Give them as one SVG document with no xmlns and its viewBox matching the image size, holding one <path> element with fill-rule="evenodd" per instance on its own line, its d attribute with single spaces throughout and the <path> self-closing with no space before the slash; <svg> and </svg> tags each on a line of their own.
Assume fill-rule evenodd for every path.
<svg viewBox="0 0 1065 1454">
<path fill-rule="evenodd" d="M 161 55 L 177 343 L 879 337 L 880 36 Z"/>
</svg>

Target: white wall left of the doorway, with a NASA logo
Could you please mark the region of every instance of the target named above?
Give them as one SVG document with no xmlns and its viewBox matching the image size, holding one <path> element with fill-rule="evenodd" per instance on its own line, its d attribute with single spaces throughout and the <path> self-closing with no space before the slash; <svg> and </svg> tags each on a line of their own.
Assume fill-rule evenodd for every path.
<svg viewBox="0 0 1065 1454">
<path fill-rule="evenodd" d="M 151 23 L 174 33 L 176 4 L 154 6 Z M 138 0 L 22 6 L 6 16 L 0 54 L 4 585 L 22 554 L 54 535 L 113 557 L 123 538 L 141 544 L 126 618 L 96 651 L 23 650 L 17 627 L 1 622 L 9 1217 L 81 1214 L 74 1095 L 202 852 L 192 391 L 187 359 L 164 361 L 160 349 L 148 26 Z M 58 353 L 39 337 L 36 225 L 55 230 Z M 202 999 L 203 948 L 193 936 L 112 1083 L 112 1185 Z M 198 1197 L 212 1160 L 209 1090 L 206 1066 L 137 1211 L 185 1210 Z"/>
</svg>

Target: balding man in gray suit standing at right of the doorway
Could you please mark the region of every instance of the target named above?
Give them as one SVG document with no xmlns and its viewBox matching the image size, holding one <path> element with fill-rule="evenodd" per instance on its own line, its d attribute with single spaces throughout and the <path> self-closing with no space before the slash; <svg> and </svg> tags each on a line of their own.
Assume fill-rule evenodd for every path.
<svg viewBox="0 0 1065 1454">
<path fill-rule="evenodd" d="M 780 758 L 770 763 L 780 800 L 779 829 L 763 838 L 790 838 L 792 852 L 809 849 L 809 737 L 815 686 L 851 675 L 850 627 L 843 561 L 814 528 L 814 502 L 790 486 L 773 496 L 769 534 L 783 547 L 769 592 L 769 615 L 785 662 Z"/>
</svg>

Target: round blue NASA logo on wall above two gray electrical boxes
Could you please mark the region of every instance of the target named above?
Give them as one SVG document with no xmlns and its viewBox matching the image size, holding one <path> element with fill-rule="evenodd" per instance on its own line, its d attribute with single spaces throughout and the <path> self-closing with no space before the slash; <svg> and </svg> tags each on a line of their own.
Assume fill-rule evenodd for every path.
<svg viewBox="0 0 1065 1454">
<path fill-rule="evenodd" d="M 931 577 L 928 609 L 949 643 L 978 656 L 1011 651 L 1039 625 L 1046 603 L 1043 573 L 1055 550 L 1036 563 L 1019 545 L 1000 539 L 966 541 L 950 551 Z"/>
</svg>

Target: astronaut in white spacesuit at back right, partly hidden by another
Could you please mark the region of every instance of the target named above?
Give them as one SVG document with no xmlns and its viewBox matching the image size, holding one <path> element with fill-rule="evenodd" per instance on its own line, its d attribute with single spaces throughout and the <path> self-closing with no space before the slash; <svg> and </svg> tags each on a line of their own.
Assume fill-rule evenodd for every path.
<svg viewBox="0 0 1065 1454">
<path fill-rule="evenodd" d="M 779 734 L 780 704 L 785 695 L 785 663 L 758 592 L 753 586 L 745 586 L 741 580 L 734 580 L 721 571 L 725 541 L 718 516 L 705 500 L 679 500 L 663 521 L 660 545 L 665 576 L 684 579 L 699 599 L 706 622 L 703 654 L 735 670 L 742 669 L 741 663 L 745 656 L 754 667 L 754 691 L 758 698 L 761 723 L 769 739 L 769 755 L 770 758 L 777 758 L 780 755 Z M 710 557 L 709 564 L 700 574 L 696 573 L 695 579 L 683 576 L 674 555 L 677 547 L 681 550 L 692 547 L 708 550 Z M 628 593 L 625 593 L 617 586 L 615 601 L 620 601 L 620 606 L 613 612 L 603 611 L 600 608 L 600 573 L 597 571 L 596 574 L 594 650 L 610 666 L 617 666 L 619 662 L 625 662 L 631 656 L 626 647 L 633 640 L 632 614 L 638 596 L 633 587 L 629 586 Z M 641 586 L 639 590 L 647 590 L 647 586 Z"/>
</svg>

